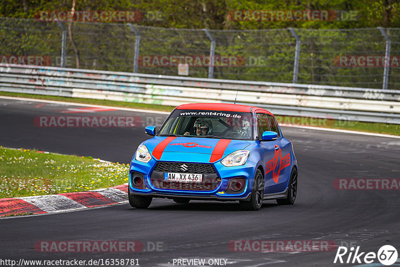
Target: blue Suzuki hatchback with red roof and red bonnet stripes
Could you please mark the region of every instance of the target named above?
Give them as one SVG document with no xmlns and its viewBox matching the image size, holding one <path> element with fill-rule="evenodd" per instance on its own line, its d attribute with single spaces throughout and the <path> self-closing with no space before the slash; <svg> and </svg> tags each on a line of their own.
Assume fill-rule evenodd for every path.
<svg viewBox="0 0 400 267">
<path fill-rule="evenodd" d="M 275 117 L 255 106 L 193 103 L 177 106 L 135 151 L 129 203 L 147 208 L 153 197 L 177 203 L 239 201 L 258 210 L 263 200 L 293 204 L 297 161 Z"/>
</svg>

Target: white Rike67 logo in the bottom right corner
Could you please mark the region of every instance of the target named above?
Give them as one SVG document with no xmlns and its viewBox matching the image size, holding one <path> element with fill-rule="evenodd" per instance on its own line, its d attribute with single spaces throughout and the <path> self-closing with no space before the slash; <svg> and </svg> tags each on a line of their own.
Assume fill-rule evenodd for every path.
<svg viewBox="0 0 400 267">
<path fill-rule="evenodd" d="M 359 246 L 347 249 L 345 246 L 337 248 L 333 263 L 372 263 L 376 259 L 383 265 L 391 265 L 397 260 L 397 250 L 392 245 L 383 245 L 378 252 L 361 252 Z"/>
</svg>

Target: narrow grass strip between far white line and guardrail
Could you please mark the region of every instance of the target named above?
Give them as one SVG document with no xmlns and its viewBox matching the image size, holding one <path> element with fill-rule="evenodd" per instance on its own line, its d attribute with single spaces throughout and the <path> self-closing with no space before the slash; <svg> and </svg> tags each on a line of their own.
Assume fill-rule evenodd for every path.
<svg viewBox="0 0 400 267">
<path fill-rule="evenodd" d="M 35 99 L 46 99 L 46 100 L 57 100 L 57 101 L 64 101 L 64 102 L 108 105 L 108 106 L 117 106 L 117 107 L 140 108 L 140 109 L 149 109 L 149 110 L 158 110 L 158 111 L 171 111 L 174 108 L 173 106 L 163 106 L 163 105 L 155 105 L 155 104 L 141 104 L 141 103 L 132 103 L 132 102 L 112 101 L 112 100 L 70 98 L 70 97 L 62 97 L 62 96 L 13 93 L 13 92 L 1 92 L 1 91 L 0 91 L 0 95 L 35 98 Z M 388 124 L 388 123 L 380 123 L 380 122 L 362 122 L 362 121 L 350 121 L 350 120 L 335 120 L 335 119 L 324 119 L 324 118 L 319 118 L 316 121 L 312 121 L 312 118 L 305 118 L 305 117 L 298 117 L 298 116 L 280 116 L 280 115 L 278 115 L 276 117 L 278 119 L 278 122 L 286 123 L 286 124 L 302 125 L 302 126 L 316 126 L 316 127 L 324 127 L 324 128 L 357 130 L 357 131 L 366 131 L 366 132 L 374 132 L 374 133 L 400 135 L 400 125 L 399 124 Z"/>
</svg>

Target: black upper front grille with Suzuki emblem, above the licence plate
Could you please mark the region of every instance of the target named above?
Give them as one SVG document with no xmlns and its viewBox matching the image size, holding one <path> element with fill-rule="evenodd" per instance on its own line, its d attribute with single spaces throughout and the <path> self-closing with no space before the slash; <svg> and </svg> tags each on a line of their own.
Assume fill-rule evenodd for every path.
<svg viewBox="0 0 400 267">
<path fill-rule="evenodd" d="M 184 164 L 184 166 L 182 166 Z M 157 162 L 154 171 L 159 172 L 184 172 L 184 173 L 202 173 L 215 174 L 215 168 L 212 164 L 201 163 L 176 163 L 176 162 Z"/>
</svg>

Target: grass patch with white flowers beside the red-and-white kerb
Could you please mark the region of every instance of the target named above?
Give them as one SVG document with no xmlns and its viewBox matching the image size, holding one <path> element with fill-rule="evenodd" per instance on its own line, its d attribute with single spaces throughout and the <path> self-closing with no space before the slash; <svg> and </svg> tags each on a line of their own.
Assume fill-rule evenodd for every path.
<svg viewBox="0 0 400 267">
<path fill-rule="evenodd" d="M 87 191 L 123 184 L 127 164 L 0 147 L 0 198 Z"/>
</svg>

